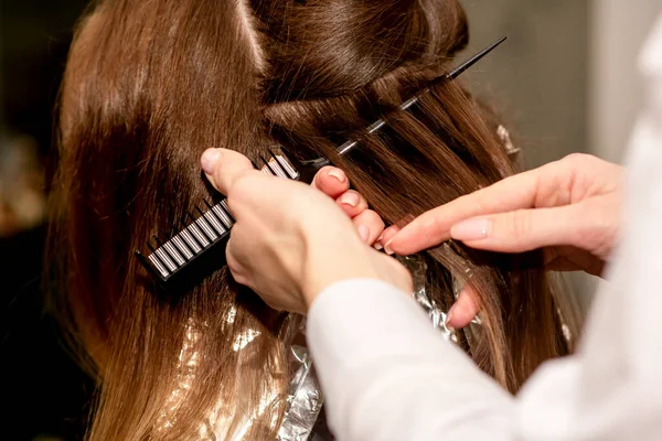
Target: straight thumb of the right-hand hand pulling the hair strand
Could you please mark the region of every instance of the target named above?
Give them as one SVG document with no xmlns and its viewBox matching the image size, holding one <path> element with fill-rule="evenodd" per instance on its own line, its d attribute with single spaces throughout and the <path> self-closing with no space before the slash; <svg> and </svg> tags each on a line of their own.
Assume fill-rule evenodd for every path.
<svg viewBox="0 0 662 441">
<path fill-rule="evenodd" d="M 599 211 L 579 203 L 474 217 L 453 225 L 450 237 L 471 248 L 499 252 L 524 252 L 553 245 L 592 251 L 591 237 L 602 225 Z"/>
</svg>

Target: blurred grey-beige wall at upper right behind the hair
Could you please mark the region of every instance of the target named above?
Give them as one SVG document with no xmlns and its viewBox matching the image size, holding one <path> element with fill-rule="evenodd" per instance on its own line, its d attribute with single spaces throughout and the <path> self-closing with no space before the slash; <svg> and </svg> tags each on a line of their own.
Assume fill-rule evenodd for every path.
<svg viewBox="0 0 662 441">
<path fill-rule="evenodd" d="M 643 96 L 642 44 L 662 0 L 460 0 L 471 49 L 509 41 L 468 77 L 538 166 L 573 152 L 622 163 Z M 586 310 L 599 279 L 564 275 Z"/>
</svg>

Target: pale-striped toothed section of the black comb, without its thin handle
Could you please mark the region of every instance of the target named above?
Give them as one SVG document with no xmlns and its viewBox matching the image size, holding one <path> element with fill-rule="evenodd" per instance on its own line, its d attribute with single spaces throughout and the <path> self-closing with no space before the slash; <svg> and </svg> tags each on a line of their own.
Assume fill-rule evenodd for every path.
<svg viewBox="0 0 662 441">
<path fill-rule="evenodd" d="M 299 172 L 282 154 L 270 153 L 268 158 L 260 158 L 263 173 L 273 176 L 298 180 Z M 235 220 L 229 213 L 227 200 L 212 205 L 204 202 L 204 207 L 196 206 L 197 216 L 186 213 L 182 229 L 174 236 L 162 240 L 153 236 L 153 244 L 147 244 L 150 254 L 147 258 L 136 251 L 139 261 L 162 282 L 167 282 L 174 275 L 193 263 L 194 260 L 215 248 L 218 244 L 227 244 L 229 232 Z M 223 250 L 224 251 L 224 250 Z M 215 268 L 221 265 L 216 263 Z"/>
</svg>

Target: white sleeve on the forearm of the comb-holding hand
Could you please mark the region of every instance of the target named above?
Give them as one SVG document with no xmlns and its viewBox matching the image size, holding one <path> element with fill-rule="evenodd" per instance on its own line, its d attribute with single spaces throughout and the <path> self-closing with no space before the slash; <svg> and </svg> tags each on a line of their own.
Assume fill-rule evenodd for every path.
<svg viewBox="0 0 662 441">
<path fill-rule="evenodd" d="M 376 280 L 327 288 L 307 324 L 339 440 L 509 440 L 513 398 Z"/>
</svg>

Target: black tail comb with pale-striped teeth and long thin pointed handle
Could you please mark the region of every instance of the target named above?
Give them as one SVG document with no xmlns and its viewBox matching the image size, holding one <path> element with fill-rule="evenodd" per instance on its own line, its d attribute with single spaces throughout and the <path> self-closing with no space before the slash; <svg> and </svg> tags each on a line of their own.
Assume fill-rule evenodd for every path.
<svg viewBox="0 0 662 441">
<path fill-rule="evenodd" d="M 418 103 L 420 96 L 428 93 L 430 87 L 456 79 L 504 41 L 505 37 L 499 40 L 453 71 L 434 78 L 423 90 L 401 104 L 399 108 L 407 110 Z M 375 133 L 384 126 L 386 126 L 386 121 L 378 119 L 370 125 L 366 131 Z M 359 144 L 360 141 L 349 140 L 337 149 L 338 154 L 348 154 Z M 331 164 L 327 158 L 319 158 L 312 161 L 295 161 L 296 165 L 293 165 L 284 153 L 275 151 L 270 153 L 269 158 L 260 158 L 260 162 L 261 166 L 256 165 L 256 169 L 263 173 L 306 183 L 310 183 L 318 170 Z M 135 251 L 140 263 L 168 291 L 173 288 L 188 290 L 225 265 L 225 246 L 234 225 L 226 200 L 214 205 L 205 202 L 204 208 L 195 207 L 195 211 L 197 217 L 189 213 L 189 222 L 174 236 L 164 239 L 154 236 L 153 243 L 147 244 L 150 250 L 147 256 L 139 250 Z"/>
</svg>

